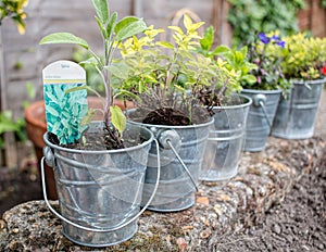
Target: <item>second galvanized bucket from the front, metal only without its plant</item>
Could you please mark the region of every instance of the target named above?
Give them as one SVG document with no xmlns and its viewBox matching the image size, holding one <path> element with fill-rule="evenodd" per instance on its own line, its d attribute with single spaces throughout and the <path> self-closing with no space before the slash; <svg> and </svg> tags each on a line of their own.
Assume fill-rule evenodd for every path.
<svg viewBox="0 0 326 252">
<path fill-rule="evenodd" d="M 204 148 L 214 119 L 200 125 L 164 126 L 131 122 L 149 128 L 160 143 L 161 176 L 149 210 L 176 212 L 192 206 L 202 165 Z M 143 186 L 143 201 L 148 201 L 158 176 L 158 155 L 152 146 Z"/>
</svg>

